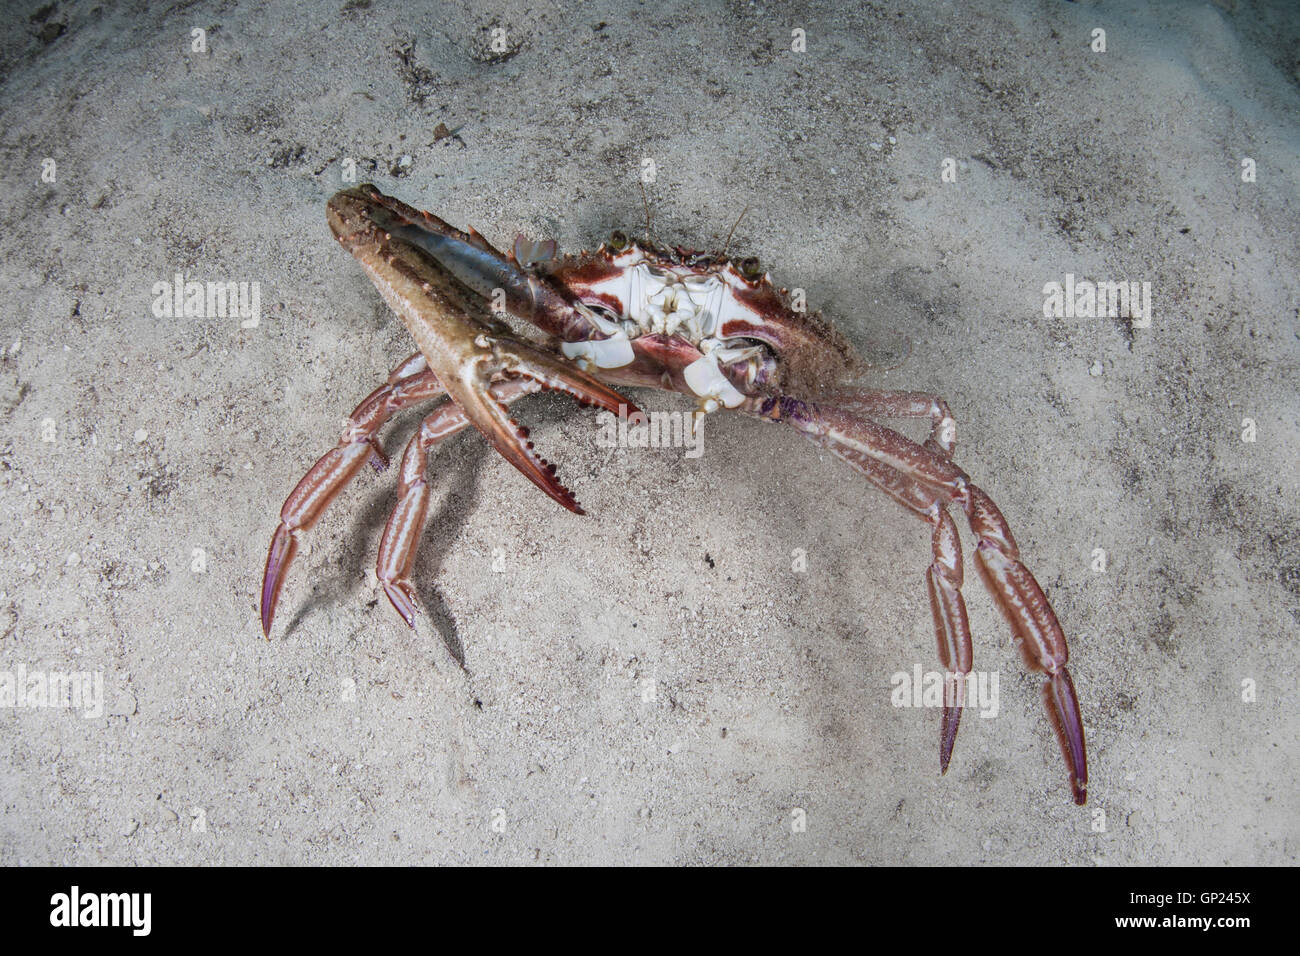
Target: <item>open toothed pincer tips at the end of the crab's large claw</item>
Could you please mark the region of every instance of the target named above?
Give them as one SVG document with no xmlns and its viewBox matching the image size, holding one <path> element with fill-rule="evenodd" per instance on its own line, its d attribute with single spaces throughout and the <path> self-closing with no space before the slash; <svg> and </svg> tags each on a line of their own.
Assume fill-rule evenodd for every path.
<svg viewBox="0 0 1300 956">
<path fill-rule="evenodd" d="M 488 363 L 465 363 L 458 373 L 443 382 L 447 394 L 465 412 L 502 458 L 523 472 L 524 477 L 541 488 L 573 514 L 585 514 L 569 492 L 555 477 L 555 466 L 533 451 L 528 429 L 510 418 L 506 406 L 489 392 L 490 372 L 504 372 L 511 377 L 532 378 L 543 389 L 554 389 L 576 398 L 581 405 L 594 405 L 615 415 L 636 415 L 640 410 L 608 385 L 580 372 L 523 342 L 481 336 L 480 342 L 491 350 Z"/>
</svg>

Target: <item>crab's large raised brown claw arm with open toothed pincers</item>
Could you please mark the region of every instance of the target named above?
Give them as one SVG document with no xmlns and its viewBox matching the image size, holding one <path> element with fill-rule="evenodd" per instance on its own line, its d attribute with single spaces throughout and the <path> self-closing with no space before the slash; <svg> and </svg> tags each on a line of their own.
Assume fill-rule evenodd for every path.
<svg viewBox="0 0 1300 956">
<path fill-rule="evenodd" d="M 465 418 L 500 455 L 569 511 L 582 509 L 555 479 L 555 466 L 538 457 L 526 436 L 489 394 L 502 375 L 526 377 L 580 402 L 619 414 L 627 398 L 552 355 L 520 342 L 499 325 L 476 319 L 473 294 L 500 289 L 511 311 L 526 312 L 549 291 L 547 308 L 568 308 L 549 286 L 495 252 L 481 237 L 452 230 L 441 220 L 384 196 L 373 186 L 337 193 L 326 219 L 339 243 L 369 274 L 402 319 L 429 368 Z M 532 298 L 528 298 L 532 297 Z M 632 411 L 636 411 L 634 408 Z"/>
</svg>

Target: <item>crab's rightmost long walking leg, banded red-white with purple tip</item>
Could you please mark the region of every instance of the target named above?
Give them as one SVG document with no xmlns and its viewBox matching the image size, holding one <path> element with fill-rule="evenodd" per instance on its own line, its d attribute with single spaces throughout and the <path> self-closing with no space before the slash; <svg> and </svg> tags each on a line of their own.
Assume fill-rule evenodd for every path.
<svg viewBox="0 0 1300 956">
<path fill-rule="evenodd" d="M 833 407 L 789 397 L 751 398 L 746 411 L 788 421 L 818 445 L 852 464 L 881 463 L 956 502 L 975 535 L 975 558 L 984 584 L 1002 609 L 1026 666 L 1046 674 L 1043 700 L 1070 773 L 1074 801 L 1088 799 L 1088 758 L 1069 648 L 1043 588 L 1020 563 L 1011 529 L 993 501 L 944 457 L 874 421 Z"/>
</svg>

